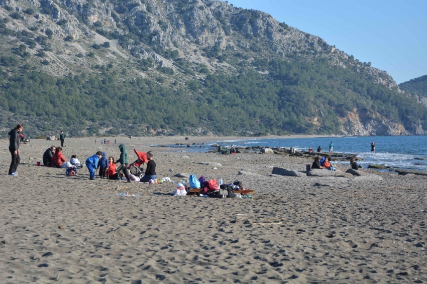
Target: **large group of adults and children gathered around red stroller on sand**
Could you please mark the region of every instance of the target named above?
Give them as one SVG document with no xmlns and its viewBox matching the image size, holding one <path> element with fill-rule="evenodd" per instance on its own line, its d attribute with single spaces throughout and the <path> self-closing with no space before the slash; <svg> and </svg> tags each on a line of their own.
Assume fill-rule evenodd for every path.
<svg viewBox="0 0 427 284">
<path fill-rule="evenodd" d="M 121 180 L 122 176 L 130 183 L 132 180 L 137 180 L 135 176 L 129 174 L 128 166 L 128 153 L 126 152 L 126 146 L 121 144 L 119 146 L 120 159 L 115 161 L 114 157 L 106 158 L 105 152 L 96 152 L 95 155 L 90 156 L 86 159 L 85 165 L 89 171 L 89 179 L 95 179 L 95 173 L 99 170 L 100 178 L 108 178 L 109 180 Z M 149 182 L 157 178 L 156 174 L 156 163 L 153 160 L 153 154 L 147 153 L 147 169 L 140 182 Z M 120 163 L 120 167 L 117 168 L 116 164 Z M 62 148 L 52 146 L 47 149 L 43 154 L 43 165 L 46 167 L 56 167 L 67 169 L 70 172 L 77 173 L 77 169 L 81 169 L 84 165 L 80 165 L 80 161 L 77 160 L 76 155 L 71 156 L 71 160 L 68 162 L 62 155 Z M 122 174 L 121 174 L 122 172 Z M 67 173 L 67 172 L 66 172 Z"/>
</svg>

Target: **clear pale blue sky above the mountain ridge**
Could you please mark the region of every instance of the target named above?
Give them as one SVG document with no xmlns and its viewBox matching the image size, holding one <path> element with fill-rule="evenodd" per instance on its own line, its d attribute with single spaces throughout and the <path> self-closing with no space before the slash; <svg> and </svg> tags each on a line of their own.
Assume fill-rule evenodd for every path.
<svg viewBox="0 0 427 284">
<path fill-rule="evenodd" d="M 229 0 L 387 71 L 396 82 L 427 75 L 427 0 Z"/>
</svg>

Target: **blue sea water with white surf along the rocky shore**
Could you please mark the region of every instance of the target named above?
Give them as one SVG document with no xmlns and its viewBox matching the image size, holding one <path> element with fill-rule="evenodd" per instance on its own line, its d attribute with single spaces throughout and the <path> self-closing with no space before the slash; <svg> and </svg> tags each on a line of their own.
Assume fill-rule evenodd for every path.
<svg viewBox="0 0 427 284">
<path fill-rule="evenodd" d="M 197 144 L 191 148 L 181 148 L 187 152 L 207 152 L 212 144 L 222 147 L 261 146 L 270 148 L 290 148 L 313 151 L 318 146 L 329 153 L 329 144 L 334 144 L 334 153 L 355 154 L 363 158 L 360 162 L 364 168 L 370 164 L 383 165 L 405 170 L 427 170 L 427 136 L 358 136 L 358 137 L 314 137 L 314 138 L 267 138 L 267 139 L 237 139 L 217 140 L 210 143 Z M 375 153 L 371 153 L 371 143 L 375 141 Z M 169 145 L 170 147 L 178 147 Z M 183 147 L 183 146 L 180 146 Z M 423 160 L 425 159 L 425 160 Z M 338 162 L 349 164 L 349 162 Z"/>
</svg>

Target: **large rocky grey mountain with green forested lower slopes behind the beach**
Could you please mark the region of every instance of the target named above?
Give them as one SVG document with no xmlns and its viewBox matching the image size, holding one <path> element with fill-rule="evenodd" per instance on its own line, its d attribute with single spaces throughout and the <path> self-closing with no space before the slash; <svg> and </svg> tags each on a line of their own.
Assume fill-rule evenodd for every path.
<svg viewBox="0 0 427 284">
<path fill-rule="evenodd" d="M 0 0 L 0 128 L 33 135 L 424 134 L 385 72 L 211 0 Z M 411 110 L 411 111 L 410 111 Z"/>
</svg>

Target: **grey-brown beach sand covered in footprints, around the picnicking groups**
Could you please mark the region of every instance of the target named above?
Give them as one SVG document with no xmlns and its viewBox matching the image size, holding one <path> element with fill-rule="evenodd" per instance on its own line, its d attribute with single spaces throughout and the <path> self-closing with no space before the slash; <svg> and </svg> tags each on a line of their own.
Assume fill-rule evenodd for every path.
<svg viewBox="0 0 427 284">
<path fill-rule="evenodd" d="M 302 171 L 311 161 L 147 146 L 185 143 L 182 137 L 119 137 L 117 145 L 99 140 L 66 138 L 64 156 L 76 154 L 84 163 L 102 150 L 117 159 L 125 143 L 131 163 L 133 148 L 153 151 L 159 178 L 179 181 L 173 174 L 182 172 L 239 180 L 257 193 L 252 199 L 175 197 L 174 183 L 89 181 L 86 168 L 67 177 L 63 169 L 35 166 L 47 148 L 59 146 L 46 140 L 21 145 L 19 174 L 10 177 L 2 140 L 0 282 L 427 281 L 425 177 L 269 176 L 273 167 Z M 246 174 L 238 175 L 241 170 Z M 139 196 L 116 195 L 126 192 Z"/>
</svg>

